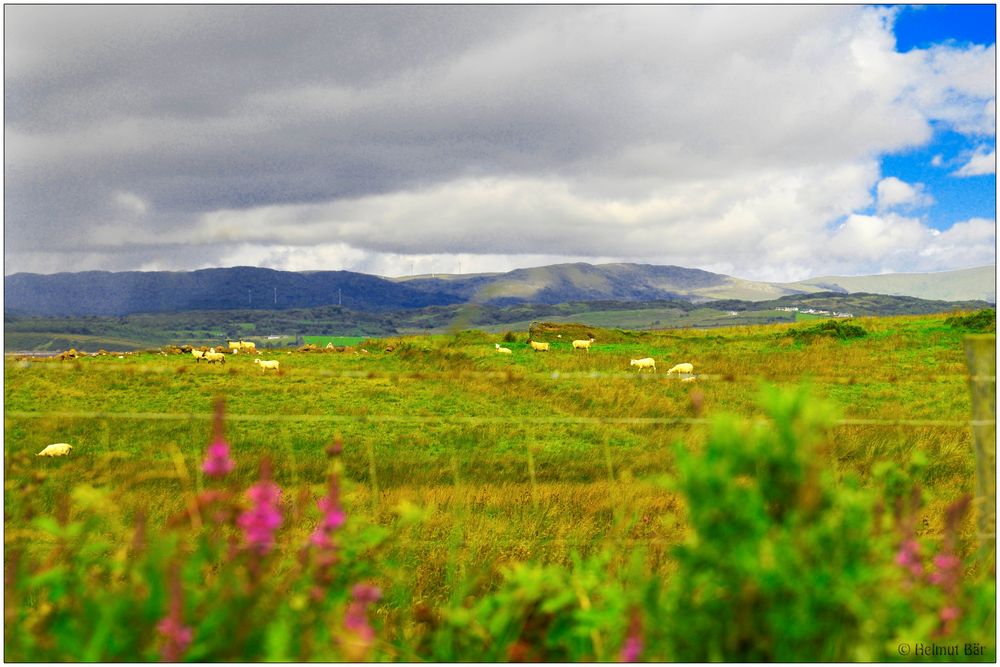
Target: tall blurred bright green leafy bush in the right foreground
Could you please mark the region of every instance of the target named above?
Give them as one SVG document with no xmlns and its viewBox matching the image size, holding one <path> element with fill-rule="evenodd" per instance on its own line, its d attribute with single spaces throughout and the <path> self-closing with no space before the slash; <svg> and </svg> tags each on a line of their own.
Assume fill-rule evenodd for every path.
<svg viewBox="0 0 1000 667">
<path fill-rule="evenodd" d="M 821 464 L 829 408 L 804 392 L 771 390 L 763 403 L 769 423 L 719 419 L 703 452 L 677 447 L 691 535 L 667 595 L 668 618 L 684 619 L 667 624 L 669 659 L 871 661 L 898 658 L 888 647 L 904 641 L 981 639 L 990 607 L 979 592 L 995 582 L 958 581 L 967 502 L 949 510 L 937 569 L 925 576 L 911 476 L 880 468 L 896 508 L 883 525 L 878 493 Z"/>
</svg>

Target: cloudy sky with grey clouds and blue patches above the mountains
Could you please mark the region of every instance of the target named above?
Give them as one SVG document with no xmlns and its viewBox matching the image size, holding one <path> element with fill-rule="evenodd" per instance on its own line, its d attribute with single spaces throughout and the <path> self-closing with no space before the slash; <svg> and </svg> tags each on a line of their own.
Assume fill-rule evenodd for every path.
<svg viewBox="0 0 1000 667">
<path fill-rule="evenodd" d="M 4 271 L 995 262 L 995 6 L 4 7 Z"/>
</svg>

